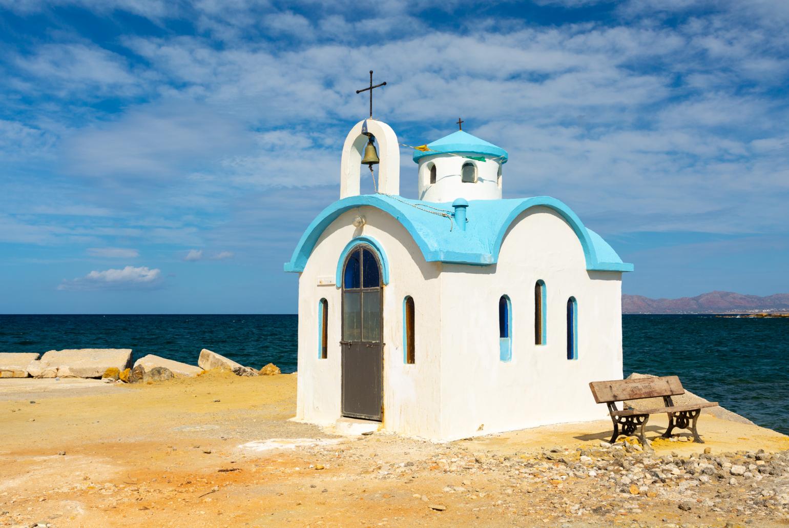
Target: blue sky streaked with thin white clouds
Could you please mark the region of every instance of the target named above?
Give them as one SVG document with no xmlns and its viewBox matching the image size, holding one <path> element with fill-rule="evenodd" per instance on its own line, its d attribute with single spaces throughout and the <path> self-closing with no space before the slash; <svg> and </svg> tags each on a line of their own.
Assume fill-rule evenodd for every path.
<svg viewBox="0 0 789 528">
<path fill-rule="evenodd" d="M 789 291 L 789 2 L 349 5 L 0 0 L 0 313 L 294 313 L 369 69 L 403 142 L 462 116 L 625 293 Z"/>
</svg>

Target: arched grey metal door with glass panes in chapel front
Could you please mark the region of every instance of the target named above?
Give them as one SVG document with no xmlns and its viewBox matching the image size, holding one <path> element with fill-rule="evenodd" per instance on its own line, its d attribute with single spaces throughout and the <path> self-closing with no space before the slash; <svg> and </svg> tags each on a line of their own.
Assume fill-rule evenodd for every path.
<svg viewBox="0 0 789 528">
<path fill-rule="evenodd" d="M 342 273 L 342 416 L 383 417 L 381 268 L 368 245 L 357 245 Z"/>
</svg>

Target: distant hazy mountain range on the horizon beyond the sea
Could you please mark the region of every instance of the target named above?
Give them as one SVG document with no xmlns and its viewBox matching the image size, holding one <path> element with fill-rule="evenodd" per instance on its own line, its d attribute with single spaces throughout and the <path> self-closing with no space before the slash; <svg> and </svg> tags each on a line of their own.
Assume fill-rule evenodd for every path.
<svg viewBox="0 0 789 528">
<path fill-rule="evenodd" d="M 622 296 L 622 313 L 747 313 L 789 312 L 789 294 L 767 297 L 711 291 L 696 297 L 650 299 L 642 295 Z"/>
</svg>

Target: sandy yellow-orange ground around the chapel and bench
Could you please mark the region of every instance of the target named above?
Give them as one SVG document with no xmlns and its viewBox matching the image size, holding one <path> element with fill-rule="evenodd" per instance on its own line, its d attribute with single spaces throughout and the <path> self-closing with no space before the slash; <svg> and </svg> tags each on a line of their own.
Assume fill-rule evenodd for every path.
<svg viewBox="0 0 789 528">
<path fill-rule="evenodd" d="M 681 511 L 661 496 L 637 497 L 630 510 L 637 513 L 569 517 L 568 498 L 621 498 L 572 477 L 513 492 L 511 474 L 472 467 L 475 453 L 506 464 L 554 446 L 593 448 L 610 436 L 610 421 L 451 444 L 387 433 L 342 437 L 289 421 L 295 395 L 294 375 L 209 373 L 147 385 L 0 380 L 0 526 L 753 523 L 733 508 Z M 651 418 L 648 436 L 665 423 Z M 789 449 L 789 437 L 754 425 L 703 415 L 699 429 L 706 444 L 656 441 L 656 454 Z M 789 521 L 767 515 L 753 526 Z"/>
</svg>

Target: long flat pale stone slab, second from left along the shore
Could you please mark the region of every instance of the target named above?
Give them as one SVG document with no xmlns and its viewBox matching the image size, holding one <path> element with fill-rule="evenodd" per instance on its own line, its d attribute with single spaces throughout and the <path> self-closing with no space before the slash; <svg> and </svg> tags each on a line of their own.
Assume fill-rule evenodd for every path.
<svg viewBox="0 0 789 528">
<path fill-rule="evenodd" d="M 50 350 L 28 364 L 33 377 L 100 378 L 110 367 L 124 370 L 132 361 L 129 348 L 81 348 Z"/>
</svg>

